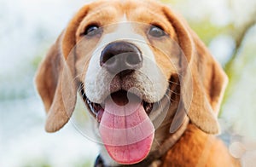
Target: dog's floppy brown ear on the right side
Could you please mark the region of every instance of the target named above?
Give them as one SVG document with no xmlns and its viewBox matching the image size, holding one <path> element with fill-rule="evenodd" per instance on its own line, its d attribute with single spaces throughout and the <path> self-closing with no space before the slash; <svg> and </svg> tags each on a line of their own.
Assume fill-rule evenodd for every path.
<svg viewBox="0 0 256 167">
<path fill-rule="evenodd" d="M 187 61 L 181 83 L 183 106 L 193 124 L 207 133 L 217 134 L 218 111 L 228 78 L 186 22 L 166 6 L 163 11 L 177 33 Z"/>
</svg>

